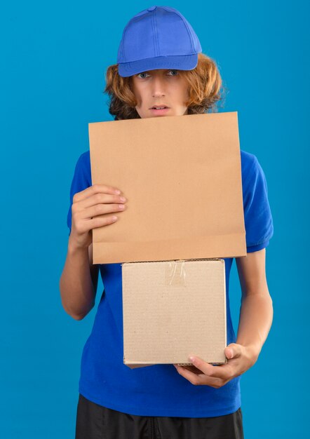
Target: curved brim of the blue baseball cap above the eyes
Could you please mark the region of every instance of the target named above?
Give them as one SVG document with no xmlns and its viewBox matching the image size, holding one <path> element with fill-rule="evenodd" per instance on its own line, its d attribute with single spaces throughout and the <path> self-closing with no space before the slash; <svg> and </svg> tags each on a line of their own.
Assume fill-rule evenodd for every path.
<svg viewBox="0 0 310 439">
<path fill-rule="evenodd" d="M 127 77 L 155 69 L 192 70 L 197 63 L 197 53 L 193 55 L 157 56 L 132 62 L 119 62 L 119 75 Z"/>
</svg>

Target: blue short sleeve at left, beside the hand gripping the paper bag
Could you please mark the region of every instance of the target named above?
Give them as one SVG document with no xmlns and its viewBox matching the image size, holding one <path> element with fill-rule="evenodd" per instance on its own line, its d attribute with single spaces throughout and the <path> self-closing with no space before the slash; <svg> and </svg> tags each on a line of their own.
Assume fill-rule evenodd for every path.
<svg viewBox="0 0 310 439">
<path fill-rule="evenodd" d="M 74 175 L 72 178 L 72 183 L 70 187 L 69 196 L 69 210 L 67 214 L 67 226 L 69 228 L 69 234 L 71 233 L 72 227 L 72 203 L 73 197 L 76 192 L 83 191 L 87 187 L 92 185 L 91 182 L 91 172 L 90 172 L 90 153 L 89 151 L 84 152 L 79 156 L 76 166 L 74 169 Z"/>
</svg>

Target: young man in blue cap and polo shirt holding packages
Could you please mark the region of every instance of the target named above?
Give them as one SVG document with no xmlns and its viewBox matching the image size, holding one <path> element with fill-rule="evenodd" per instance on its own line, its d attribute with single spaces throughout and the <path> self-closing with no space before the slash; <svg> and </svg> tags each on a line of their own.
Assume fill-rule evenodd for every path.
<svg viewBox="0 0 310 439">
<path fill-rule="evenodd" d="M 126 25 L 118 63 L 107 69 L 105 92 L 115 119 L 177 116 L 212 109 L 220 100 L 221 84 L 215 62 L 201 53 L 189 22 L 173 8 L 152 6 Z M 77 439 L 243 438 L 241 374 L 257 361 L 273 315 L 265 273 L 273 223 L 263 170 L 254 155 L 242 150 L 241 171 L 248 254 L 236 258 L 242 290 L 237 337 L 229 310 L 233 259 L 224 258 L 227 364 L 213 366 L 194 357 L 191 367 L 130 370 L 123 364 L 121 264 L 92 263 L 92 230 L 108 227 L 126 210 L 122 198 L 126 193 L 121 193 L 126 188 L 111 187 L 109 182 L 92 185 L 89 151 L 79 157 L 67 216 L 70 234 L 60 278 L 62 305 L 80 320 L 95 304 L 99 271 L 105 290 L 83 349 Z"/>
</svg>

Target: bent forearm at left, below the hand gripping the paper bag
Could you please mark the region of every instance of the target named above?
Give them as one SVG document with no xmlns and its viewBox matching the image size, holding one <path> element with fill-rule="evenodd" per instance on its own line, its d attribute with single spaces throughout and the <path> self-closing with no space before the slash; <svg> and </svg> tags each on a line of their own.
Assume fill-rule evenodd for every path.
<svg viewBox="0 0 310 439">
<path fill-rule="evenodd" d="M 76 248 L 70 239 L 60 278 L 60 295 L 65 311 L 76 320 L 86 316 L 95 302 L 88 248 Z"/>
</svg>

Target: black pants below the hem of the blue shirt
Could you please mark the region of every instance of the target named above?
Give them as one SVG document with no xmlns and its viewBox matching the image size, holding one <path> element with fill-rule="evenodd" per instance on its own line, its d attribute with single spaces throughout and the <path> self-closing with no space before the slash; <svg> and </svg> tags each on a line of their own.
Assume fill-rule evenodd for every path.
<svg viewBox="0 0 310 439">
<path fill-rule="evenodd" d="M 209 418 L 137 416 L 79 394 L 75 439 L 243 439 L 241 407 Z"/>
</svg>

